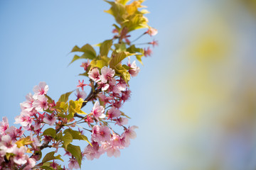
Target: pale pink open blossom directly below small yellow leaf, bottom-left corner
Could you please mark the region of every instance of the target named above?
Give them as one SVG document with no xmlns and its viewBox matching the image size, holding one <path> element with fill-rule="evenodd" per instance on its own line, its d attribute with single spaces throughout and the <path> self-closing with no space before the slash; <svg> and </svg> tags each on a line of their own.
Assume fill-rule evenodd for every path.
<svg viewBox="0 0 256 170">
<path fill-rule="evenodd" d="M 26 162 L 28 160 L 28 155 L 25 154 L 26 151 L 27 151 L 27 148 L 23 147 L 23 146 L 20 148 L 18 148 L 18 147 L 14 148 L 14 152 L 13 152 L 15 154 L 14 162 L 16 164 L 19 164 L 19 165 L 26 164 Z"/>
</svg>

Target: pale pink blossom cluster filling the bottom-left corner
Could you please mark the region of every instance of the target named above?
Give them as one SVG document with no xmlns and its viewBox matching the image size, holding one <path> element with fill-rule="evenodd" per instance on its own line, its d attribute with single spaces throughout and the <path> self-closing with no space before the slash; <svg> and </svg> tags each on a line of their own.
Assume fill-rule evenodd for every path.
<svg viewBox="0 0 256 170">
<path fill-rule="evenodd" d="M 26 164 L 23 169 L 28 170 L 36 165 L 36 159 L 28 157 L 26 153 L 38 149 L 41 144 L 31 134 L 27 139 L 27 142 L 32 145 L 31 149 L 21 146 L 21 141 L 18 141 L 18 139 L 21 138 L 23 133 L 24 130 L 21 130 L 21 128 L 9 127 L 6 117 L 0 122 L 0 169 L 16 169 Z"/>
</svg>

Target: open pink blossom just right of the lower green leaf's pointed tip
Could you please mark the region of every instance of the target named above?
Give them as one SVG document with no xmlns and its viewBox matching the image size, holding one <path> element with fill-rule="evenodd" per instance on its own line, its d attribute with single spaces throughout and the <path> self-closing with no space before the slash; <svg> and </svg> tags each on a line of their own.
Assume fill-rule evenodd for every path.
<svg viewBox="0 0 256 170">
<path fill-rule="evenodd" d="M 92 140 L 95 142 L 110 142 L 110 128 L 107 126 L 95 125 L 92 128 Z"/>
</svg>

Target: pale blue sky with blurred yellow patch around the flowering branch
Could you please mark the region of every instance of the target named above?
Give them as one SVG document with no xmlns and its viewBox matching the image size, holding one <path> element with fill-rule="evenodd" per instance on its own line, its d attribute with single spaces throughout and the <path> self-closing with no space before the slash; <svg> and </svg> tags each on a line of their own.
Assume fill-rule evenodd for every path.
<svg viewBox="0 0 256 170">
<path fill-rule="evenodd" d="M 244 143 L 256 139 L 229 136 L 224 120 L 237 118 L 240 125 L 240 117 L 228 115 L 224 106 L 234 99 L 230 96 L 239 96 L 235 91 L 248 89 L 241 82 L 255 80 L 254 16 L 231 0 L 147 0 L 144 5 L 151 12 L 149 25 L 159 30 L 159 47 L 144 58 L 144 66 L 138 64 L 141 72 L 130 81 L 132 98 L 122 108 L 132 117 L 129 125 L 139 126 L 137 138 L 121 157 L 85 160 L 82 169 L 203 170 L 217 162 L 216 169 L 244 170 L 256 159 L 255 149 Z M 82 69 L 80 62 L 68 66 L 69 52 L 75 45 L 112 38 L 114 19 L 103 12 L 108 8 L 102 0 L 0 1 L 1 117 L 12 124 L 19 103 L 40 81 L 55 100 L 76 88 Z M 224 154 L 217 152 L 219 146 L 227 148 Z"/>
</svg>

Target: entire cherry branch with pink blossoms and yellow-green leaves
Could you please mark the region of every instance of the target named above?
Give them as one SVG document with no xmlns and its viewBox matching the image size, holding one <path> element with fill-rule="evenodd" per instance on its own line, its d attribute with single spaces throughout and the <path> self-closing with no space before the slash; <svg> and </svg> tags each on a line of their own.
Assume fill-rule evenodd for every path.
<svg viewBox="0 0 256 170">
<path fill-rule="evenodd" d="M 9 127 L 9 121 L 3 118 L 0 122 L 0 169 L 79 169 L 82 159 L 98 159 L 105 153 L 108 157 L 119 157 L 120 149 L 129 147 L 130 140 L 136 137 L 137 126 L 129 126 L 129 116 L 121 110 L 131 96 L 129 80 L 140 72 L 136 61 L 131 63 L 130 60 L 136 57 L 142 63 L 142 57 L 151 55 L 150 47 L 138 45 L 158 45 L 156 40 L 134 43 L 143 35 L 158 33 L 148 26 L 144 16 L 147 11 L 139 11 L 144 7 L 142 2 L 107 1 L 112 7 L 106 12 L 114 16 L 117 24 L 113 25 L 114 37 L 99 44 L 98 55 L 89 44 L 73 47 L 71 52 L 83 54 L 75 55 L 72 62 L 87 59 L 80 65 L 84 71 L 80 75 L 90 81 L 87 84 L 85 79 L 78 81 L 74 100 L 70 99 L 73 91 L 54 100 L 48 94 L 46 82 L 40 82 L 34 86 L 33 94 L 27 94 L 26 101 L 20 104 L 21 113 L 15 118 L 20 128 Z M 139 38 L 129 40 L 129 33 L 139 28 L 147 30 Z M 90 88 L 89 94 L 85 92 L 87 88 Z M 89 102 L 92 108 L 90 113 L 85 113 L 83 107 Z M 85 147 L 74 145 L 74 140 L 85 142 Z M 46 148 L 52 152 L 43 154 Z M 57 155 L 59 150 L 65 154 Z M 68 167 L 60 164 L 64 156 L 69 159 Z"/>
</svg>

